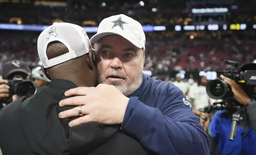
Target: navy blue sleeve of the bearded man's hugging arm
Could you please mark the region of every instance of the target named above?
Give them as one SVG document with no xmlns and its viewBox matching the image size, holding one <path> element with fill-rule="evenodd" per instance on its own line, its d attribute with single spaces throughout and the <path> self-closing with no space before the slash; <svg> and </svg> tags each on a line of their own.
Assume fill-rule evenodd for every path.
<svg viewBox="0 0 256 155">
<path fill-rule="evenodd" d="M 183 92 L 172 89 L 160 110 L 131 97 L 122 129 L 159 155 L 209 155 L 209 137 L 200 118 L 192 112 Z"/>
</svg>

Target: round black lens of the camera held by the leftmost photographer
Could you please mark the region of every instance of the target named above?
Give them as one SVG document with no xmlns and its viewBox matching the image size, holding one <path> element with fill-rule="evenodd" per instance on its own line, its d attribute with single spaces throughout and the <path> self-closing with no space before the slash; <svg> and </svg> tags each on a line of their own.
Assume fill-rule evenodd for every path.
<svg viewBox="0 0 256 155">
<path fill-rule="evenodd" d="M 18 96 L 31 97 L 35 93 L 35 87 L 30 81 L 23 81 L 17 85 L 16 94 Z"/>
</svg>

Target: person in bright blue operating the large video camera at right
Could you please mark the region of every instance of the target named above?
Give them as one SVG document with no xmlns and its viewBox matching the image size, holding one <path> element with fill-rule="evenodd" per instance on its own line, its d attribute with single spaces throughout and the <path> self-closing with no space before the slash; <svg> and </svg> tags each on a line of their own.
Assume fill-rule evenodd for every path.
<svg viewBox="0 0 256 155">
<path fill-rule="evenodd" d="M 219 110 L 213 116 L 209 125 L 213 147 L 211 152 L 220 155 L 255 155 L 256 154 L 256 101 L 248 96 L 245 91 L 232 79 L 221 75 L 221 79 L 227 83 L 234 95 L 234 98 L 245 105 L 246 112 L 242 116 L 235 130 L 234 140 L 229 140 L 231 120 L 233 112 Z M 246 86 L 248 87 L 248 86 Z M 250 94 L 256 94 L 254 89 Z"/>
</svg>

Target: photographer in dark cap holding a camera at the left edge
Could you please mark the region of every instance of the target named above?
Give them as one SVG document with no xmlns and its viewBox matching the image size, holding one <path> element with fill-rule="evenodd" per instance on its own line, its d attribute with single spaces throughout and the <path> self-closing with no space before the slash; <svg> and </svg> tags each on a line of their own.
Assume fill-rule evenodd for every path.
<svg viewBox="0 0 256 155">
<path fill-rule="evenodd" d="M 19 97 L 19 95 L 15 94 L 14 90 L 12 90 L 10 87 L 11 84 L 18 84 L 18 83 L 8 83 L 8 81 L 12 80 L 15 81 L 15 79 L 19 78 L 19 80 L 16 81 L 30 81 L 30 74 L 31 70 L 29 69 L 29 66 L 27 63 L 25 63 L 22 60 L 12 60 L 8 61 L 2 66 L 2 77 L 3 79 L 0 79 L 0 109 L 5 106 L 6 104 L 9 104 L 10 102 L 16 101 Z M 12 85 L 11 85 L 12 86 Z M 22 87 L 22 89 L 29 89 L 30 87 Z M 32 88 L 33 89 L 33 88 Z M 24 90 L 27 91 L 27 90 Z M 33 90 L 32 90 L 33 91 Z"/>
</svg>

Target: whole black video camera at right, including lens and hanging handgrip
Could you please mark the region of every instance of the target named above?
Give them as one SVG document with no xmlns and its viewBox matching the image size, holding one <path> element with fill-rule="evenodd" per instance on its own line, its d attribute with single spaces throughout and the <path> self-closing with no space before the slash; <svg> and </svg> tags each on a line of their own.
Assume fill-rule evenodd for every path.
<svg viewBox="0 0 256 155">
<path fill-rule="evenodd" d="M 220 71 L 223 76 L 233 79 L 246 94 L 254 94 L 251 88 L 256 86 L 256 64 L 246 64 L 241 66 L 239 62 L 225 60 L 225 64 L 231 65 L 229 70 Z M 246 107 L 235 100 L 231 87 L 221 79 L 209 81 L 206 85 L 206 93 L 215 100 L 222 99 L 221 102 L 215 102 L 213 105 L 199 109 L 200 112 L 211 113 L 214 110 L 226 110 L 232 116 L 229 140 L 234 140 L 237 133 L 239 121 L 244 119 L 241 113 L 246 112 Z M 250 95 L 248 95 L 250 97 Z"/>
</svg>

